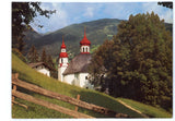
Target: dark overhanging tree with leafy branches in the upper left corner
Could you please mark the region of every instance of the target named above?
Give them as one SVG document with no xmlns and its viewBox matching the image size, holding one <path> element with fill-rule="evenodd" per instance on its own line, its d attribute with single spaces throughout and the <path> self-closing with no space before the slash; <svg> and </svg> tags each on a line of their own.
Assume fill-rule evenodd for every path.
<svg viewBox="0 0 175 121">
<path fill-rule="evenodd" d="M 49 17 L 56 11 L 40 9 L 40 2 L 12 2 L 12 48 L 23 51 L 23 31 L 37 15 Z M 42 27 L 42 25 L 38 25 Z"/>
</svg>

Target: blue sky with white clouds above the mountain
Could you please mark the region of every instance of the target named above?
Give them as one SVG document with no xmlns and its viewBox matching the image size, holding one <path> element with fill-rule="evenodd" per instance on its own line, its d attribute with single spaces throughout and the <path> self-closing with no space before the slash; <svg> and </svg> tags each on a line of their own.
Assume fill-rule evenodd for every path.
<svg viewBox="0 0 175 121">
<path fill-rule="evenodd" d="M 37 16 L 31 24 L 38 33 L 49 33 L 65 26 L 98 19 L 128 20 L 138 13 L 156 13 L 160 19 L 173 23 L 173 10 L 158 5 L 158 2 L 43 2 L 44 10 L 57 10 L 50 19 Z M 37 27 L 44 25 L 43 28 Z"/>
</svg>

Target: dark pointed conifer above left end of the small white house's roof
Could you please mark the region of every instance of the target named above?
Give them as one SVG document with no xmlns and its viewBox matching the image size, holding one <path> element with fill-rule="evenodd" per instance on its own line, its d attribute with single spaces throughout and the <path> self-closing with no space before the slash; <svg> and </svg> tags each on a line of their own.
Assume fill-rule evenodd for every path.
<svg viewBox="0 0 175 121">
<path fill-rule="evenodd" d="M 37 53 L 37 50 L 35 46 L 33 45 L 27 53 L 27 60 L 28 62 L 38 62 L 39 56 Z"/>
</svg>

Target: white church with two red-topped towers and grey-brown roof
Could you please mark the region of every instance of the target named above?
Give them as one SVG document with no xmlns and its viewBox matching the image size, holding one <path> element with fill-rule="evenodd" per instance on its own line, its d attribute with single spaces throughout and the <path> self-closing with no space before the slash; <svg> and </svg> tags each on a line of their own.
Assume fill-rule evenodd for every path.
<svg viewBox="0 0 175 121">
<path fill-rule="evenodd" d="M 93 88 L 89 82 L 88 66 L 91 63 L 90 53 L 91 41 L 86 38 L 85 29 L 84 37 L 80 41 L 80 53 L 77 55 L 70 63 L 68 62 L 67 47 L 62 38 L 61 51 L 58 59 L 58 80 L 71 85 L 83 88 Z"/>
</svg>

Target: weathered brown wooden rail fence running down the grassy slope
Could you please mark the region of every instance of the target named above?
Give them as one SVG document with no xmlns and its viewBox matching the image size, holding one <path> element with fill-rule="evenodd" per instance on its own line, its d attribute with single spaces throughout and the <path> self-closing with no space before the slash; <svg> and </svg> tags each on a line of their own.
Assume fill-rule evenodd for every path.
<svg viewBox="0 0 175 121">
<path fill-rule="evenodd" d="M 50 92 L 50 90 L 47 90 L 45 88 L 38 87 L 36 85 L 23 82 L 23 81 L 19 80 L 18 76 L 19 76 L 18 73 L 16 74 L 12 74 L 12 85 L 13 85 L 12 102 L 15 102 L 14 101 L 14 96 L 15 96 L 15 97 L 22 98 L 24 100 L 40 105 L 40 106 L 45 106 L 45 107 L 47 107 L 49 109 L 54 109 L 56 111 L 72 116 L 74 118 L 93 118 L 91 116 L 78 112 L 77 111 L 78 107 L 82 107 L 82 108 L 85 108 L 85 109 L 89 109 L 89 110 L 93 110 L 95 112 L 100 112 L 100 113 L 109 116 L 112 118 L 129 118 L 128 114 L 118 113 L 118 112 L 113 111 L 110 109 L 82 101 L 82 100 L 80 100 L 80 96 L 78 96 L 78 99 L 75 99 L 75 98 L 71 98 L 71 97 L 65 96 L 65 95 L 60 95 L 58 93 Z M 60 107 L 58 105 L 54 105 L 54 104 L 50 104 L 48 101 L 35 98 L 33 96 L 20 93 L 20 92 L 16 90 L 16 86 L 23 87 L 25 89 L 35 92 L 37 94 L 40 94 L 40 95 L 44 95 L 44 96 L 47 96 L 47 97 L 50 97 L 50 98 L 55 98 L 55 99 L 58 99 L 58 100 L 61 100 L 61 101 L 65 101 L 65 102 L 72 104 L 72 105 L 77 106 L 75 110 L 70 110 L 70 109 Z"/>
</svg>

